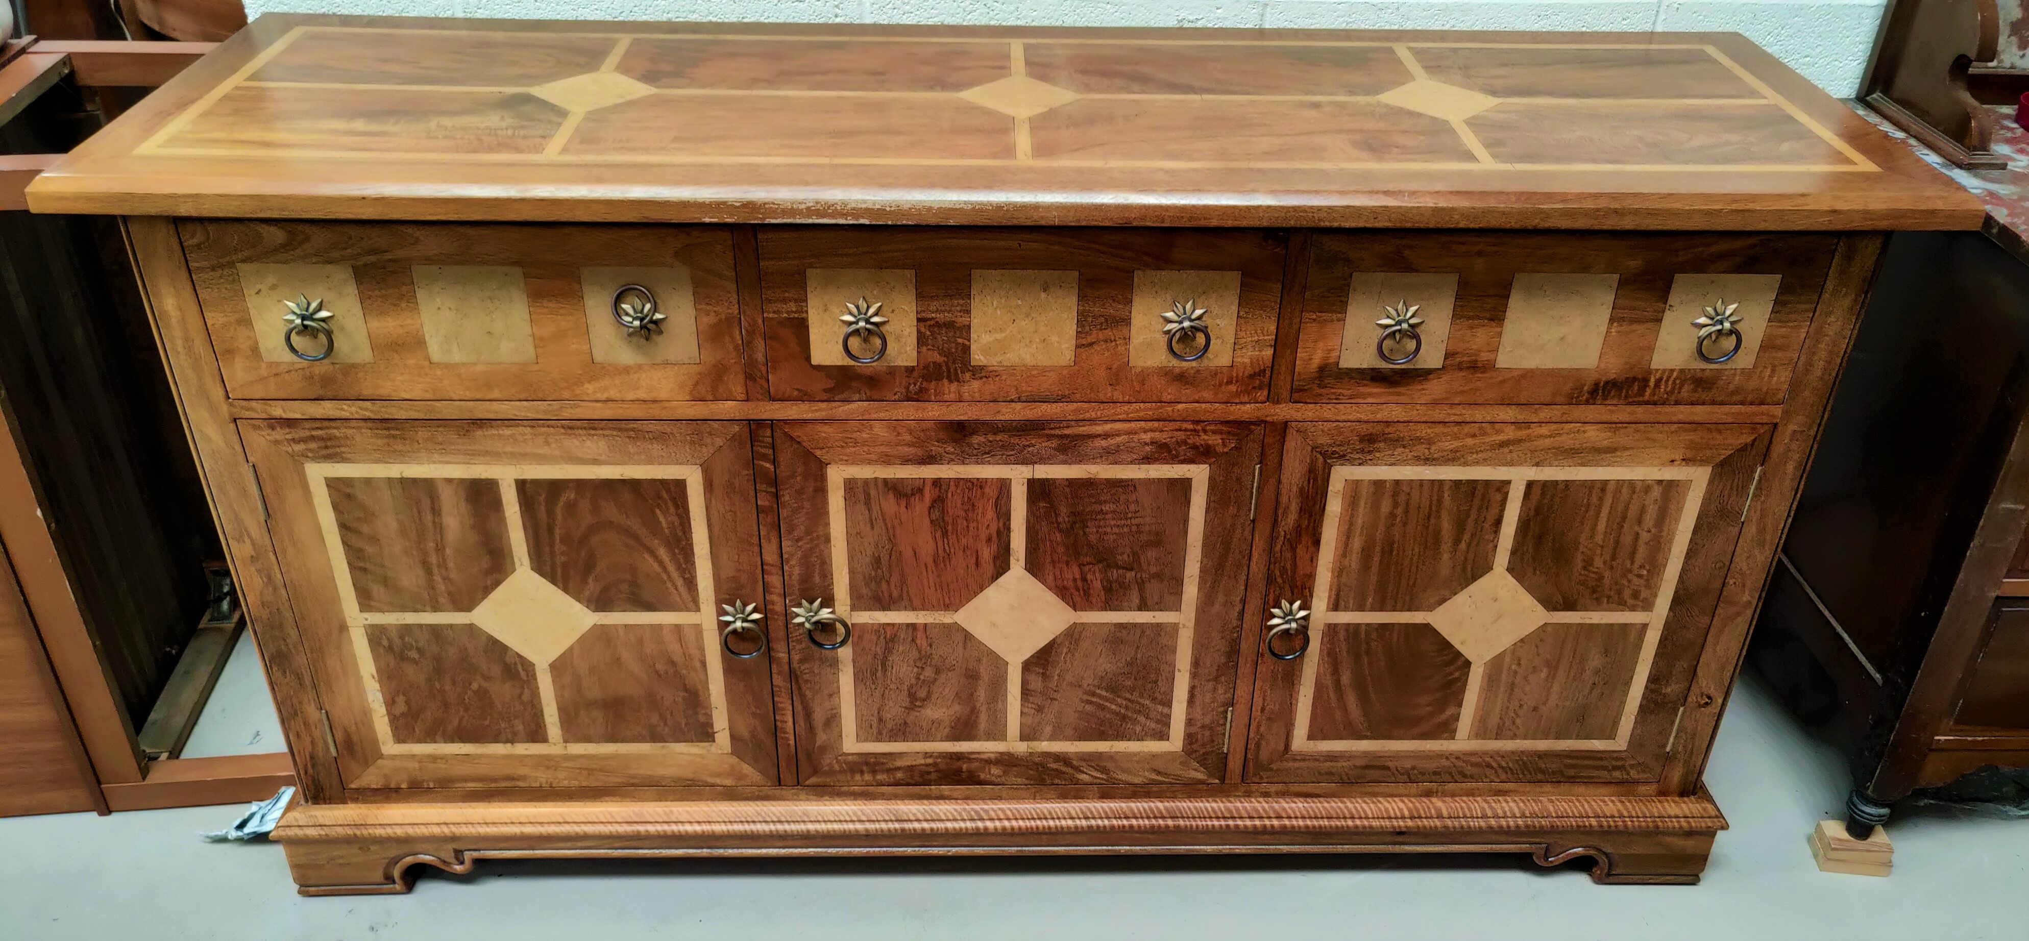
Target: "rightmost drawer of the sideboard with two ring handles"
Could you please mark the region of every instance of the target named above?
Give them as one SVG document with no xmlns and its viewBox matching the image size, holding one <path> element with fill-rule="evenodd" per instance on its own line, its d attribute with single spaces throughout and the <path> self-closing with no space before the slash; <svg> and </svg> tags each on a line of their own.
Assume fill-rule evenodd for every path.
<svg viewBox="0 0 2029 941">
<path fill-rule="evenodd" d="M 1836 245 L 1790 233 L 1319 233 L 1292 400 L 1781 404 Z M 1708 363 L 1698 320 L 1715 304 L 1731 322 L 1702 341 Z"/>
</svg>

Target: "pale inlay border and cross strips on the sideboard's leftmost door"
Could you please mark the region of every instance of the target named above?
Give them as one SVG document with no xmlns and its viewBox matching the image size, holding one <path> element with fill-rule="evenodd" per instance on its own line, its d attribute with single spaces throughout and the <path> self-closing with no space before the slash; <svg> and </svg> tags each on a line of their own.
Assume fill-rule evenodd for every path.
<svg viewBox="0 0 2029 941">
<path fill-rule="evenodd" d="M 359 679 L 365 683 L 367 708 L 373 718 L 373 732 L 383 754 L 730 754 L 732 736 L 726 706 L 724 665 L 718 659 L 718 627 L 712 602 L 718 598 L 712 580 L 710 525 L 704 511 L 704 468 L 698 464 L 341 464 L 310 462 L 302 466 L 310 485 L 310 503 L 317 509 L 317 527 L 325 537 L 325 556 L 331 562 L 331 578 L 337 584 L 339 606 L 345 614 L 345 629 L 353 641 L 353 657 L 359 663 Z M 345 544 L 339 537 L 339 517 L 331 505 L 327 481 L 345 477 L 408 477 L 408 479 L 481 479 L 497 481 L 501 489 L 501 513 L 507 527 L 507 546 L 515 572 L 532 572 L 528 533 L 521 529 L 521 503 L 515 481 L 684 481 L 690 495 L 690 527 L 698 572 L 698 610 L 617 610 L 592 612 L 594 625 L 696 625 L 704 639 L 704 673 L 712 708 L 710 742 L 566 742 L 564 726 L 556 704 L 556 683 L 550 663 L 536 663 L 536 687 L 542 696 L 542 742 L 396 742 L 394 726 L 388 722 L 388 706 L 381 698 L 379 671 L 373 667 L 373 649 L 367 643 L 367 625 L 471 625 L 469 610 L 359 610 L 359 594 L 353 588 L 351 566 L 345 562 Z M 517 653 L 519 655 L 519 653 Z"/>
</svg>

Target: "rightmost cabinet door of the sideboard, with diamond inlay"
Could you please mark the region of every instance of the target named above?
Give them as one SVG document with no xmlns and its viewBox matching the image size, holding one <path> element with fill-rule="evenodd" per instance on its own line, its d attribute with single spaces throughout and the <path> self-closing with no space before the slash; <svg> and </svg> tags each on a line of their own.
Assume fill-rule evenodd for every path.
<svg viewBox="0 0 2029 941">
<path fill-rule="evenodd" d="M 1309 617 L 1264 633 L 1248 779 L 1654 781 L 1765 448 L 1737 424 L 1292 424 L 1266 602 Z"/>
</svg>

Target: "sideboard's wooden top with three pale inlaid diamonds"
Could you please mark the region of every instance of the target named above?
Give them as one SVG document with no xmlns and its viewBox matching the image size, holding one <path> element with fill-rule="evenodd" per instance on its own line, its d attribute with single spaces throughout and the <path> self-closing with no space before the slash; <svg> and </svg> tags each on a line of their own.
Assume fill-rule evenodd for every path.
<svg viewBox="0 0 2029 941">
<path fill-rule="evenodd" d="M 262 16 L 51 213 L 1970 229 L 1739 34 Z"/>
</svg>

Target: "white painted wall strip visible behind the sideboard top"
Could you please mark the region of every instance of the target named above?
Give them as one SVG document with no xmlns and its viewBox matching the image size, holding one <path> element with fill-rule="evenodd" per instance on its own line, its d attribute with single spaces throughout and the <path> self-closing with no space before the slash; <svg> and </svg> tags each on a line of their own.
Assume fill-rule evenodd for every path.
<svg viewBox="0 0 2029 941">
<path fill-rule="evenodd" d="M 264 12 L 558 20 L 1743 32 L 1850 97 L 1885 0 L 246 0 Z"/>
</svg>

